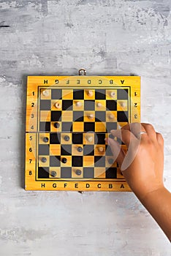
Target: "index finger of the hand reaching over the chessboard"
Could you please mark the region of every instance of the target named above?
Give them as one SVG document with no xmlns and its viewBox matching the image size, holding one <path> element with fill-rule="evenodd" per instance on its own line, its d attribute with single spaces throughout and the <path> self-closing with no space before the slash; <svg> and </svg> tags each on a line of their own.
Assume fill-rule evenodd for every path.
<svg viewBox="0 0 171 256">
<path fill-rule="evenodd" d="M 126 144 L 126 146 L 129 146 L 131 141 L 137 140 L 134 134 L 130 132 L 128 129 L 112 129 L 110 132 L 113 136 L 120 138 L 123 141 L 123 143 Z"/>
</svg>

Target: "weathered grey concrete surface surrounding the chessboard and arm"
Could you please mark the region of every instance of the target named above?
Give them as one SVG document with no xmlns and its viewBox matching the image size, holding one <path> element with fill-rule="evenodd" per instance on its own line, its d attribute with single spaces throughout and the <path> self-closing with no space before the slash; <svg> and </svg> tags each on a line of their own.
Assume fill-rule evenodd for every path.
<svg viewBox="0 0 171 256">
<path fill-rule="evenodd" d="M 133 193 L 26 192 L 26 75 L 142 76 L 171 189 L 170 0 L 0 1 L 0 255 L 170 256 Z M 162 207 L 162 206 L 159 206 Z"/>
</svg>

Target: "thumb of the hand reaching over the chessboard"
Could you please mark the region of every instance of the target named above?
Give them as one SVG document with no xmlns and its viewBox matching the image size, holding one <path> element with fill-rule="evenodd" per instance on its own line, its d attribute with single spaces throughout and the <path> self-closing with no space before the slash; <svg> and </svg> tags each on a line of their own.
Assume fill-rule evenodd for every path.
<svg viewBox="0 0 171 256">
<path fill-rule="evenodd" d="M 118 141 L 115 141 L 111 138 L 107 138 L 106 141 L 107 141 L 107 144 L 110 146 L 111 151 L 113 152 L 114 160 L 118 162 L 118 165 L 121 168 L 123 159 L 125 157 L 125 152 L 121 148 L 121 145 L 118 143 Z"/>
</svg>

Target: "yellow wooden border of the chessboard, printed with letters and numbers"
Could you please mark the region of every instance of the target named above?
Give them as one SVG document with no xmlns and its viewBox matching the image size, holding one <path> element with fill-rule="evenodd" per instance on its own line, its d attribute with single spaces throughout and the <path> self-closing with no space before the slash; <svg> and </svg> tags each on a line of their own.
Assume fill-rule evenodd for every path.
<svg viewBox="0 0 171 256">
<path fill-rule="evenodd" d="M 129 122 L 140 122 L 138 76 L 28 76 L 26 103 L 26 190 L 131 191 L 123 177 L 110 179 L 37 179 L 39 89 L 115 89 L 129 87 Z"/>
</svg>

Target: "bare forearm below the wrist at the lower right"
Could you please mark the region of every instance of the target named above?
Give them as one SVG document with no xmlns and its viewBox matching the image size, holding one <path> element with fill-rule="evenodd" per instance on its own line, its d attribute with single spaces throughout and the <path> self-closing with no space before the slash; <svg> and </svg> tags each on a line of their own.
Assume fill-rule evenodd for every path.
<svg viewBox="0 0 171 256">
<path fill-rule="evenodd" d="M 171 242 L 171 193 L 162 187 L 139 199 Z"/>
</svg>

